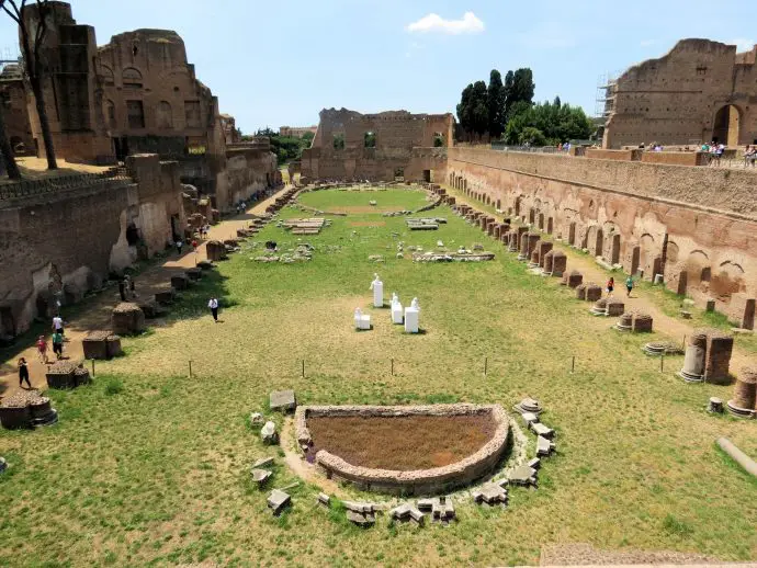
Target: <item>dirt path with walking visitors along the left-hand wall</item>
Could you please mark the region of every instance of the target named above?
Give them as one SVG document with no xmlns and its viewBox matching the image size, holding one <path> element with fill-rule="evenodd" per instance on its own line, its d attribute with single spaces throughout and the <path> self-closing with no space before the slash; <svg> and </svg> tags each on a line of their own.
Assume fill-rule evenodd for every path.
<svg viewBox="0 0 757 568">
<path fill-rule="evenodd" d="M 165 289 L 170 286 L 170 277 L 172 274 L 181 269 L 194 266 L 199 261 L 205 260 L 207 254 L 205 252 L 205 245 L 207 240 L 223 240 L 228 238 L 236 238 L 237 229 L 245 228 L 249 225 L 251 215 L 260 215 L 265 212 L 265 207 L 272 204 L 275 198 L 283 193 L 287 186 L 275 192 L 270 197 L 257 203 L 246 213 L 229 217 L 221 221 L 218 225 L 211 227 L 208 238 L 200 240 L 197 252 L 192 251 L 191 246 L 187 246 L 184 252 L 180 255 L 176 252 L 161 264 L 157 264 L 142 272 L 135 277 L 136 292 L 140 297 L 149 297 L 159 289 Z M 120 302 L 117 287 L 103 291 L 97 303 L 86 313 L 80 314 L 71 320 L 65 321 L 66 343 L 64 344 L 64 356 L 74 361 L 81 361 L 84 357 L 82 339 L 93 329 L 108 329 L 110 326 L 111 309 Z M 49 332 L 46 333 L 48 341 L 49 360 L 54 361 L 55 356 L 49 347 Z M 19 375 L 16 371 L 16 363 L 19 357 L 25 357 L 29 362 L 30 379 L 33 388 L 44 390 L 47 388 L 47 380 L 45 378 L 46 366 L 37 356 L 37 351 L 34 345 L 26 345 L 20 348 L 10 359 L 0 362 L 0 396 L 9 396 L 19 390 Z"/>
</svg>

